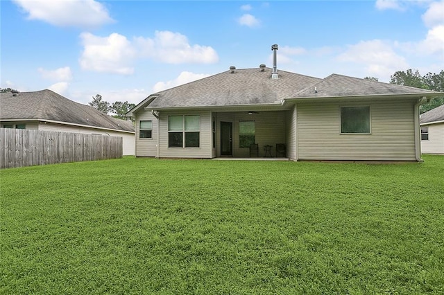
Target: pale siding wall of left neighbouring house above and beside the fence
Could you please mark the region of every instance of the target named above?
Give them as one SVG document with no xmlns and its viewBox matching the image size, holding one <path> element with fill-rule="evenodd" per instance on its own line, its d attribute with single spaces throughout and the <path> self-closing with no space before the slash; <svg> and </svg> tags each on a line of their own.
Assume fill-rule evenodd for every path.
<svg viewBox="0 0 444 295">
<path fill-rule="evenodd" d="M 42 123 L 38 124 L 38 129 L 42 131 L 55 131 L 55 132 L 73 132 L 82 134 L 101 134 L 109 136 L 119 136 L 123 139 L 123 156 L 134 155 L 135 141 L 134 134 L 127 132 L 117 132 L 111 130 L 87 128 L 72 125 L 62 125 L 56 123 Z"/>
</svg>

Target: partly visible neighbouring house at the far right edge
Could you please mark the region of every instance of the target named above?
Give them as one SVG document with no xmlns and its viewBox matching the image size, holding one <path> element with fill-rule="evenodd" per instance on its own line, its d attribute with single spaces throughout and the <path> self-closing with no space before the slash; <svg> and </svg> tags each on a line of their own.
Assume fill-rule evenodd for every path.
<svg viewBox="0 0 444 295">
<path fill-rule="evenodd" d="M 444 154 L 444 105 L 420 116 L 421 152 Z"/>
</svg>

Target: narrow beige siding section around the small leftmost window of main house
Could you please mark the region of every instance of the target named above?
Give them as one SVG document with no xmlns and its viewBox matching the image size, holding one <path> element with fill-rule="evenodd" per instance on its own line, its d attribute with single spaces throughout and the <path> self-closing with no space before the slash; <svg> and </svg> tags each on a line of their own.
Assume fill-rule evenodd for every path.
<svg viewBox="0 0 444 295">
<path fill-rule="evenodd" d="M 153 132 L 151 132 L 151 138 L 139 138 L 141 120 L 153 121 Z M 135 138 L 137 157 L 157 157 L 157 118 L 151 114 L 151 111 L 139 111 L 137 113 Z"/>
</svg>

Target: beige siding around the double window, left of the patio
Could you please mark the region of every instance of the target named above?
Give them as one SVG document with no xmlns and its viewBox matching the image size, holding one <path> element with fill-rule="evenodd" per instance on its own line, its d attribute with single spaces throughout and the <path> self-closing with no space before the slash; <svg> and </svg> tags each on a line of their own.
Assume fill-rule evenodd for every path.
<svg viewBox="0 0 444 295">
<path fill-rule="evenodd" d="M 212 157 L 212 116 L 211 111 L 161 111 L 160 158 L 211 158 Z M 168 147 L 168 117 L 180 115 L 200 115 L 199 147 Z"/>
</svg>

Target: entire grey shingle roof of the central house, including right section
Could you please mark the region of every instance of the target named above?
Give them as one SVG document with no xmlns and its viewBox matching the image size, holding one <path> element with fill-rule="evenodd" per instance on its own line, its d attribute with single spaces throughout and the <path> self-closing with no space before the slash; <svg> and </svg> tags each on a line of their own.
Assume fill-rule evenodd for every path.
<svg viewBox="0 0 444 295">
<path fill-rule="evenodd" d="M 142 107 L 151 109 L 178 107 L 226 107 L 240 105 L 280 105 L 282 100 L 300 98 L 338 98 L 357 96 L 437 96 L 440 93 L 414 87 L 387 84 L 332 74 L 325 79 L 273 69 L 237 69 L 153 93 L 127 116 Z M 316 87 L 316 91 L 314 89 Z"/>
</svg>

